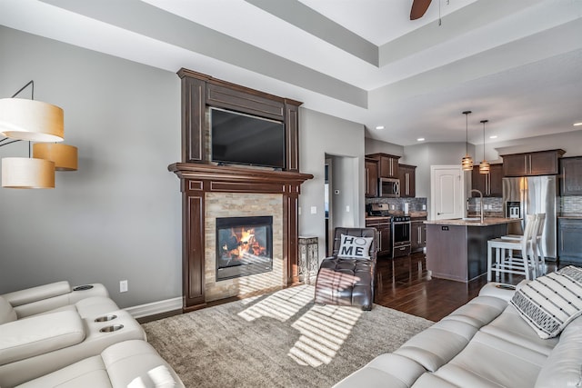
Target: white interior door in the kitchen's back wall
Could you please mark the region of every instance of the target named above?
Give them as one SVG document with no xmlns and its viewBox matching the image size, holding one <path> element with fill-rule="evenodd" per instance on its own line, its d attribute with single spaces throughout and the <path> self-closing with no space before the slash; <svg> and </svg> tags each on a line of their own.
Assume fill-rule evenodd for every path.
<svg viewBox="0 0 582 388">
<path fill-rule="evenodd" d="M 462 218 L 464 212 L 465 175 L 460 165 L 430 166 L 430 218 Z"/>
</svg>

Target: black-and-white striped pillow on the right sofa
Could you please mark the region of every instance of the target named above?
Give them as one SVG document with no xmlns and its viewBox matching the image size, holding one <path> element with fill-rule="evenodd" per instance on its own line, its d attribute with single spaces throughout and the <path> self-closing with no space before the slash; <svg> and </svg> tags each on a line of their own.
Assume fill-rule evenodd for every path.
<svg viewBox="0 0 582 388">
<path fill-rule="evenodd" d="M 569 265 L 523 285 L 511 299 L 542 339 L 557 336 L 582 314 L 582 268 Z"/>
</svg>

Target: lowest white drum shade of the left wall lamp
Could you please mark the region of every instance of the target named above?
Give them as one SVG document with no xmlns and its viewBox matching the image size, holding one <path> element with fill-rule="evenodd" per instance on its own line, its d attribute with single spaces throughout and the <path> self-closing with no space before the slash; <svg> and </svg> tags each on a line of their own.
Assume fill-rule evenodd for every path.
<svg viewBox="0 0 582 388">
<path fill-rule="evenodd" d="M 55 188 L 55 162 L 28 157 L 5 157 L 2 159 L 2 187 Z"/>
</svg>

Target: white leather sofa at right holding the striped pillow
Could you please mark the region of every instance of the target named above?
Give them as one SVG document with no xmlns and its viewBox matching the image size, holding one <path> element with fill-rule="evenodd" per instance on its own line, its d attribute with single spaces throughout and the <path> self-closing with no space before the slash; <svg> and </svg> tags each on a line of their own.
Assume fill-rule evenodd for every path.
<svg viewBox="0 0 582 388">
<path fill-rule="evenodd" d="M 570 274 L 582 283 L 582 271 Z M 394 353 L 379 355 L 335 387 L 580 386 L 582 287 L 560 284 L 564 276 L 548 274 L 523 282 L 518 284 L 518 292 L 503 284 L 487 284 L 475 299 L 416 334 Z M 523 298 L 528 294 L 533 296 L 524 309 Z M 565 294 L 569 300 L 562 300 Z M 549 322 L 554 319 L 551 311 L 550 318 L 535 322 L 547 304 L 567 310 L 572 303 L 577 305 L 567 318 L 557 319 L 557 324 Z M 540 327 L 544 326 L 556 330 L 542 333 Z M 551 338 L 542 339 L 547 336 Z"/>
</svg>

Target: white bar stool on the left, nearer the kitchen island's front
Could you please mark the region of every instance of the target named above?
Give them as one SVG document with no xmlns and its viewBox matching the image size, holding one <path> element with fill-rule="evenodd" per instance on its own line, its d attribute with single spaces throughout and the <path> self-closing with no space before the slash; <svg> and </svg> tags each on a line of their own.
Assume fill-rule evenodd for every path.
<svg viewBox="0 0 582 388">
<path fill-rule="evenodd" d="M 534 214 L 527 214 L 527 224 L 524 235 L 520 240 L 495 238 L 487 241 L 487 282 L 491 281 L 491 274 L 523 274 L 527 280 L 537 276 L 536 234 L 537 220 Z M 495 263 L 493 263 L 493 249 L 495 249 Z M 521 251 L 521 258 L 513 254 L 507 257 L 506 250 Z M 530 276 L 531 272 L 531 276 Z"/>
</svg>

